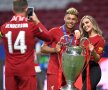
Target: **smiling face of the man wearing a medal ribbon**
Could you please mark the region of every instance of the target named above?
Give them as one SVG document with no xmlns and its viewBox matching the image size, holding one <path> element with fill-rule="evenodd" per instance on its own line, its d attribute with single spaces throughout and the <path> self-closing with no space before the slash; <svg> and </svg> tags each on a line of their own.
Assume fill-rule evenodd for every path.
<svg viewBox="0 0 108 90">
<path fill-rule="evenodd" d="M 73 29 L 73 27 L 77 23 L 77 16 L 73 14 L 66 14 L 64 17 L 64 21 L 66 24 L 66 28 Z"/>
</svg>

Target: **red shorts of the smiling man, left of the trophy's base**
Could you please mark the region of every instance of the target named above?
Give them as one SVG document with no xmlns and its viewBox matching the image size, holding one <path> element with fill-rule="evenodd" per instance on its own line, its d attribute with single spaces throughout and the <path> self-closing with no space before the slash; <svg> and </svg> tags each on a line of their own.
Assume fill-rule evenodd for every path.
<svg viewBox="0 0 108 90">
<path fill-rule="evenodd" d="M 47 74 L 47 90 L 59 90 L 58 74 Z M 62 76 L 61 86 L 66 84 L 64 77 Z"/>
</svg>

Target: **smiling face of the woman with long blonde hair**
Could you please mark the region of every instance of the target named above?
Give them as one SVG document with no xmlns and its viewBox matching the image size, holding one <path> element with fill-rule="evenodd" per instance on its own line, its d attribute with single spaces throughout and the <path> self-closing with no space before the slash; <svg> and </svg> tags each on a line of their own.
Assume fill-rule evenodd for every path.
<svg viewBox="0 0 108 90">
<path fill-rule="evenodd" d="M 86 32 L 92 32 L 93 30 L 93 24 L 88 18 L 84 18 L 82 21 L 82 27 Z"/>
</svg>

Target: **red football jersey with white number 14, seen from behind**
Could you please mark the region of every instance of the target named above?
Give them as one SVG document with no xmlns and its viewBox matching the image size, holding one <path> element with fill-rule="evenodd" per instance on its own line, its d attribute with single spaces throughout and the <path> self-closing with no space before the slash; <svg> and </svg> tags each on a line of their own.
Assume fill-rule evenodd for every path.
<svg viewBox="0 0 108 90">
<path fill-rule="evenodd" d="M 1 27 L 6 53 L 6 75 L 33 75 L 35 37 L 49 41 L 44 26 L 28 22 L 25 17 L 13 16 Z"/>
</svg>

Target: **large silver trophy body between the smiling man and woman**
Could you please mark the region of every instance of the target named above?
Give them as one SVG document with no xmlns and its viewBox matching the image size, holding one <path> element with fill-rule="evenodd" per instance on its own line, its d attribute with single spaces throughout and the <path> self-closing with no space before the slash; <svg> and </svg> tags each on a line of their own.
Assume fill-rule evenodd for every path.
<svg viewBox="0 0 108 90">
<path fill-rule="evenodd" d="M 62 37 L 62 39 L 65 37 Z M 83 38 L 81 41 L 83 42 L 86 39 Z M 85 49 L 81 46 L 71 46 L 70 42 L 66 43 L 65 46 L 66 50 L 62 54 L 62 71 L 67 84 L 61 87 L 60 90 L 77 90 L 74 82 L 83 70 L 85 64 L 83 52 L 85 52 Z"/>
</svg>

